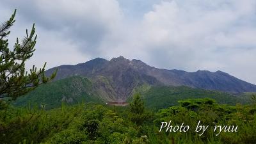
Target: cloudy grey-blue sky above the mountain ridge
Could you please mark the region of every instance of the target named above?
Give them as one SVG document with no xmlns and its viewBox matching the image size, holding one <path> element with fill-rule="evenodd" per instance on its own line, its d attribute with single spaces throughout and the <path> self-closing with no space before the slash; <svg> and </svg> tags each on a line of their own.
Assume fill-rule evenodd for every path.
<svg viewBox="0 0 256 144">
<path fill-rule="evenodd" d="M 157 68 L 221 70 L 256 84 L 255 0 L 1 0 L 10 45 L 36 25 L 27 67 L 124 56 Z"/>
</svg>

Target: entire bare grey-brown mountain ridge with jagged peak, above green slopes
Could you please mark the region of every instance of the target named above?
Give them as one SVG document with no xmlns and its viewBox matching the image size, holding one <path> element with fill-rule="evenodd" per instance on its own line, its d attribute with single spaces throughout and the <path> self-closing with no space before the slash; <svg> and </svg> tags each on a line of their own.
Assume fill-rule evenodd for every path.
<svg viewBox="0 0 256 144">
<path fill-rule="evenodd" d="M 151 67 L 140 60 L 128 60 L 122 56 L 110 61 L 95 58 L 77 65 L 61 65 L 45 72 L 51 74 L 58 68 L 56 79 L 70 76 L 88 77 L 104 100 L 127 100 L 138 86 L 189 86 L 223 92 L 256 92 L 254 84 L 230 76 L 221 71 L 166 70 Z"/>
</svg>

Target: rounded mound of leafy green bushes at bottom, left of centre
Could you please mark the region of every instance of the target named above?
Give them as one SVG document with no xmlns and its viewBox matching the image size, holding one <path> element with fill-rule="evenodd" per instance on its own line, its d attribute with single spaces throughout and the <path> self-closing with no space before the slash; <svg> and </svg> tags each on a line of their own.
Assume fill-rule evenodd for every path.
<svg viewBox="0 0 256 144">
<path fill-rule="evenodd" d="M 136 139 L 140 139 L 140 136 L 129 119 L 121 118 L 112 108 L 90 104 L 74 118 L 66 130 L 45 139 L 44 143 L 118 144 L 132 143 Z"/>
</svg>

